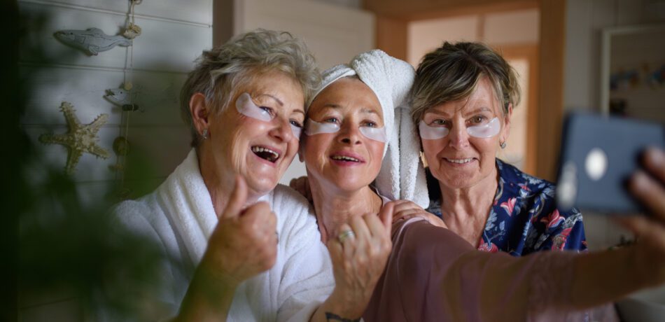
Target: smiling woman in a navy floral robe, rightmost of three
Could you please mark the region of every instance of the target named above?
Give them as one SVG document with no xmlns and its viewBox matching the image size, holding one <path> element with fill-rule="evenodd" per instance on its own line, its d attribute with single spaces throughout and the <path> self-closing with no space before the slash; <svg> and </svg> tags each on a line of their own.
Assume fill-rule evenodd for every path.
<svg viewBox="0 0 665 322">
<path fill-rule="evenodd" d="M 496 158 L 518 103 L 514 70 L 486 45 L 446 42 L 423 57 L 412 118 L 428 165 L 427 210 L 482 251 L 582 251 L 582 214 L 556 209 L 552 183 Z"/>
</svg>

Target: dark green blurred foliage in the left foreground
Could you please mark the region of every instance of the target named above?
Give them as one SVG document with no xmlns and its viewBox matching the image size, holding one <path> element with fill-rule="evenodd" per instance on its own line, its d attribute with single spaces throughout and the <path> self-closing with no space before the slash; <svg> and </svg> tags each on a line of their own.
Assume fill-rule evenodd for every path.
<svg viewBox="0 0 665 322">
<path fill-rule="evenodd" d="M 85 203 L 94 206 L 85 206 L 76 183 L 62 167 L 43 166 L 35 171 L 34 165 L 43 163 L 20 120 L 27 95 L 39 93 L 33 89 L 31 75 L 20 69 L 18 48 L 25 28 L 38 29 L 46 17 L 21 18 L 16 1 L 5 1 L 2 7 L 3 15 L 8 15 L 2 24 L 11 37 L 2 54 L 6 64 L 0 90 L 11 107 L 1 118 L 1 128 L 3 141 L 8 141 L 6 146 L 13 153 L 3 158 L 2 167 L 6 201 L 2 265 L 9 271 L 4 275 L 9 281 L 0 319 L 27 321 L 24 311 L 69 300 L 80 309 L 78 316 L 49 316 L 48 320 L 145 320 L 154 307 L 141 299 L 155 297 L 158 291 L 153 274 L 160 261 L 157 248 L 114 222 L 109 209 L 118 200 L 100 196 L 97 202 Z M 41 52 L 41 48 L 30 50 Z"/>
</svg>

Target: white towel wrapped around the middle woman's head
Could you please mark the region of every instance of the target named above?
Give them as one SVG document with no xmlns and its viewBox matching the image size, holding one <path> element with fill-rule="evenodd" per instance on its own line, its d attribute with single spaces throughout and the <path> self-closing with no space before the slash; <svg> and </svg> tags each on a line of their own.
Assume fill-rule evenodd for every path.
<svg viewBox="0 0 665 322">
<path fill-rule="evenodd" d="M 379 193 L 391 200 L 412 200 L 426 208 L 429 204 L 425 172 L 420 162 L 420 141 L 411 121 L 409 90 L 414 69 L 409 63 L 370 50 L 323 72 L 323 90 L 339 78 L 357 75 L 377 95 L 383 109 L 388 143 L 381 171 L 375 181 Z"/>
</svg>

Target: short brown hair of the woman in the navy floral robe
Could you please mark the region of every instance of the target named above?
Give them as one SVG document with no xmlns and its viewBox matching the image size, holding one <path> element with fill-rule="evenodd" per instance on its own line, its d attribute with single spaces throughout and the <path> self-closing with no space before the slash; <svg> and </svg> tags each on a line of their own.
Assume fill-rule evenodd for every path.
<svg viewBox="0 0 665 322">
<path fill-rule="evenodd" d="M 411 116 L 416 125 L 435 106 L 469 97 L 486 76 L 496 99 L 507 113 L 519 104 L 517 72 L 498 52 L 483 43 L 449 43 L 429 52 L 416 70 L 411 89 Z"/>
</svg>

